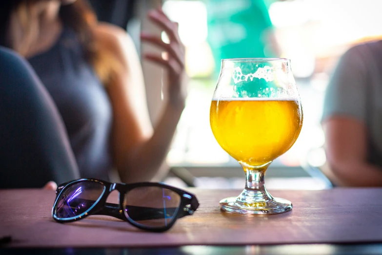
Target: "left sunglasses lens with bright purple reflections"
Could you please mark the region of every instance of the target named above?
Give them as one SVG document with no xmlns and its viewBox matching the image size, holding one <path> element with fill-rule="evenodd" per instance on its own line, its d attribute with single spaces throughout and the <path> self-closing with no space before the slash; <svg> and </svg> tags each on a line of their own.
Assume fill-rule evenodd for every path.
<svg viewBox="0 0 382 255">
<path fill-rule="evenodd" d="M 77 182 L 61 192 L 53 214 L 60 219 L 80 217 L 90 211 L 104 191 L 105 186 L 99 182 Z"/>
</svg>

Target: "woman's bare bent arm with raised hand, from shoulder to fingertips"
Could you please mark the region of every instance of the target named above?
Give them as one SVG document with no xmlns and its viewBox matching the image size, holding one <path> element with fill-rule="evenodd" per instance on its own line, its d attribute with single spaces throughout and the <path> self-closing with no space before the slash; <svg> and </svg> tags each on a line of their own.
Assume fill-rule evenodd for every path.
<svg viewBox="0 0 382 255">
<path fill-rule="evenodd" d="M 165 159 L 184 108 L 186 88 L 184 73 L 184 48 L 179 41 L 177 24 L 160 11 L 152 11 L 149 18 L 160 25 L 171 39 L 164 44 L 160 37 L 143 35 L 168 52 L 168 60 L 146 54 L 145 57 L 167 69 L 169 100 L 162 116 L 153 129 L 148 115 L 141 63 L 132 40 L 125 31 L 102 24 L 98 34 L 108 38 L 107 47 L 122 64 L 116 81 L 107 87 L 113 106 L 114 159 L 121 180 L 126 183 L 147 181 L 154 177 Z"/>
</svg>

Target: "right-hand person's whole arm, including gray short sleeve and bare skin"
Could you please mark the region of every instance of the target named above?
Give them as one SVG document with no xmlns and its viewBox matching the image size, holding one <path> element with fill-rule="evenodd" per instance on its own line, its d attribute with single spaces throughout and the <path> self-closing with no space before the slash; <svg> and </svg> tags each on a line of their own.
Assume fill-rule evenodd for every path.
<svg viewBox="0 0 382 255">
<path fill-rule="evenodd" d="M 331 176 L 341 186 L 382 186 L 382 169 L 368 159 L 367 48 L 347 51 L 326 89 L 322 127 Z"/>
</svg>

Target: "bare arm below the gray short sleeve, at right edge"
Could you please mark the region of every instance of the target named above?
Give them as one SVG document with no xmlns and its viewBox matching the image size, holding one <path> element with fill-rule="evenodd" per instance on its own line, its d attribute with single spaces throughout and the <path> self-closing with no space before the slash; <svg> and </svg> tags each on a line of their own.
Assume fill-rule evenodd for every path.
<svg viewBox="0 0 382 255">
<path fill-rule="evenodd" d="M 382 186 L 382 169 L 367 162 L 365 125 L 351 117 L 333 116 L 322 126 L 326 158 L 337 184 Z"/>
</svg>

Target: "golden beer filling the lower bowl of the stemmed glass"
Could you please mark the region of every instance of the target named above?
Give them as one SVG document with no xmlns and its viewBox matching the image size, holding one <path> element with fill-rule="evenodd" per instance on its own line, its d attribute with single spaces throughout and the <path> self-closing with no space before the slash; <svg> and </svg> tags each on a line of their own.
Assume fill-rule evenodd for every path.
<svg viewBox="0 0 382 255">
<path fill-rule="evenodd" d="M 220 146 L 233 158 L 261 166 L 295 143 L 302 127 L 302 108 L 293 99 L 213 99 L 210 124 Z"/>
</svg>

